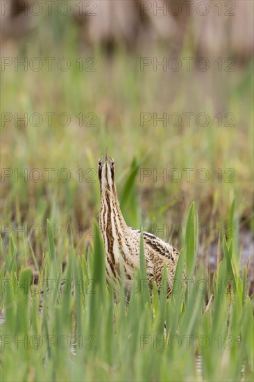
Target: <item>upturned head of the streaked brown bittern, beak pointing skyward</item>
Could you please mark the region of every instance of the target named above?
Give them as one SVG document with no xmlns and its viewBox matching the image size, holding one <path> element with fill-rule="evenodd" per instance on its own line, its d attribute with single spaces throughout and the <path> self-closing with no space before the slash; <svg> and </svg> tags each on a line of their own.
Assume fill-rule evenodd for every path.
<svg viewBox="0 0 254 382">
<path fill-rule="evenodd" d="M 114 191 L 115 189 L 115 164 L 114 159 L 108 155 L 108 149 L 98 162 L 98 176 L 101 190 Z"/>
</svg>

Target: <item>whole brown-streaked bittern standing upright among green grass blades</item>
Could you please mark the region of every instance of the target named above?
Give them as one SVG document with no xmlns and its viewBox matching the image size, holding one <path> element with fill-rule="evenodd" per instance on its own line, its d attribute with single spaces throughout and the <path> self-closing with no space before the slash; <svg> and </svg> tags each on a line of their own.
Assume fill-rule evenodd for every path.
<svg viewBox="0 0 254 382">
<path fill-rule="evenodd" d="M 105 244 L 106 270 L 108 276 L 120 274 L 121 264 L 128 281 L 133 280 L 139 267 L 140 231 L 127 226 L 117 198 L 115 187 L 114 160 L 105 156 L 99 160 L 99 181 L 101 208 L 99 215 L 100 231 Z M 164 265 L 167 266 L 168 294 L 171 292 L 173 276 L 178 260 L 178 251 L 151 233 L 143 233 L 144 258 L 149 286 L 155 281 L 160 290 Z"/>
</svg>

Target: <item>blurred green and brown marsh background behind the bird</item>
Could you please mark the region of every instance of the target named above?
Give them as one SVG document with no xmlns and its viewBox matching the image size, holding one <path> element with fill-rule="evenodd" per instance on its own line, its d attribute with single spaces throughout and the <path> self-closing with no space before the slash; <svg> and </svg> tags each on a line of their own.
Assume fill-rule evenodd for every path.
<svg viewBox="0 0 254 382">
<path fill-rule="evenodd" d="M 20 265 L 42 260 L 46 219 L 62 256 L 87 250 L 106 146 L 128 224 L 179 248 L 195 201 L 199 256 L 212 268 L 226 234 L 248 263 L 253 1 L 2 0 L 1 44 L 1 234 Z"/>
</svg>

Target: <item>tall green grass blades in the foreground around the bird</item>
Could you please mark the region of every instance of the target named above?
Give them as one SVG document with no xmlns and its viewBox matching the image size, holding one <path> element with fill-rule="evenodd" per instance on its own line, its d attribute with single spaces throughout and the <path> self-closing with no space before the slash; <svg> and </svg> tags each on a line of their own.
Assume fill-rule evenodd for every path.
<svg viewBox="0 0 254 382">
<path fill-rule="evenodd" d="M 192 204 L 189 224 L 194 213 Z M 196 263 L 194 234 L 186 232 L 167 299 L 165 273 L 160 294 L 154 284 L 150 298 L 141 240 L 140 269 L 126 304 L 123 280 L 106 283 L 97 226 L 87 257 L 77 256 L 69 240 L 64 271 L 56 240 L 49 229 L 35 288 L 31 269 L 17 268 L 10 239 L 0 272 L 3 381 L 253 379 L 252 304 L 246 272 L 239 274 L 232 258 L 232 242 L 223 239 L 223 258 L 210 285 L 207 270 Z"/>
</svg>

